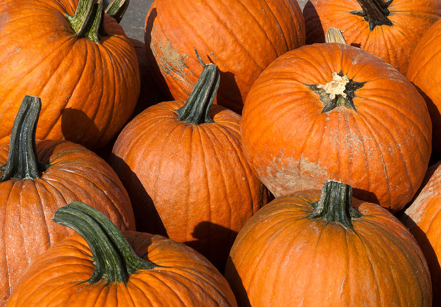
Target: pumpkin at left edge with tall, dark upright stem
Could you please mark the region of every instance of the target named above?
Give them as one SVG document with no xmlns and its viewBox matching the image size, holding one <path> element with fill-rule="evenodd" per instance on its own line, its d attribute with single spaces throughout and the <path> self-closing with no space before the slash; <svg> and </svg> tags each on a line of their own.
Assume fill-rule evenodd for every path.
<svg viewBox="0 0 441 307">
<path fill-rule="evenodd" d="M 118 228 L 135 229 L 127 192 L 104 160 L 69 141 L 35 141 L 40 108 L 25 96 L 9 146 L 0 146 L 0 306 L 30 261 L 72 234 L 50 221 L 57 208 L 88 202 Z"/>
</svg>

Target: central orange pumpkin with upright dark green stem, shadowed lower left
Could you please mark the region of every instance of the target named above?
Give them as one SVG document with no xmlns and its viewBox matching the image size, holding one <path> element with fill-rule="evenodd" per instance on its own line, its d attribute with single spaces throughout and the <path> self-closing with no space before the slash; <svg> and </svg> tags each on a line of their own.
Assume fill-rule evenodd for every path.
<svg viewBox="0 0 441 307">
<path fill-rule="evenodd" d="M 201 64 L 189 99 L 136 116 L 109 164 L 127 188 L 138 231 L 185 242 L 223 270 L 237 232 L 266 204 L 267 192 L 242 153 L 240 116 L 212 105 L 217 66 Z"/>
</svg>

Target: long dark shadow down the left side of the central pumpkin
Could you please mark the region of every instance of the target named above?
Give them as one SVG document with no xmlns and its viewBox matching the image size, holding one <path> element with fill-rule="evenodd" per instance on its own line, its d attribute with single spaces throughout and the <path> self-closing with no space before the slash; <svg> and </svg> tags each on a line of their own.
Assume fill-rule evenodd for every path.
<svg viewBox="0 0 441 307">
<path fill-rule="evenodd" d="M 109 154 L 107 161 L 127 190 L 135 215 L 136 230 L 169 237 L 151 197 L 136 174 L 122 158 L 117 157 L 114 153 Z"/>
</svg>

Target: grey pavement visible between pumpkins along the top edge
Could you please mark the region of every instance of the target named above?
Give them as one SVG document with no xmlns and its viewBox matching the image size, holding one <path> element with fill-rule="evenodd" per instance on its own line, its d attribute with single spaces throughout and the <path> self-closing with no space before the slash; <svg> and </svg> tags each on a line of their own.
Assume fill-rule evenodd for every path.
<svg viewBox="0 0 441 307">
<path fill-rule="evenodd" d="M 302 9 L 307 2 L 307 0 L 297 1 Z M 110 0 L 105 0 L 104 2 L 109 3 Z M 121 26 L 123 26 L 124 32 L 128 37 L 144 42 L 144 23 L 146 22 L 147 12 L 152 2 L 153 0 L 130 0 L 121 21 Z"/>
</svg>

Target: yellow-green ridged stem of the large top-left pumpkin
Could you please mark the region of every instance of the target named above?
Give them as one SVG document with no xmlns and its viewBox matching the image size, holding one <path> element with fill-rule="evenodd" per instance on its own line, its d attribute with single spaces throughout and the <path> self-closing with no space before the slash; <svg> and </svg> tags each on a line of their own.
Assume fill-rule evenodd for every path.
<svg viewBox="0 0 441 307">
<path fill-rule="evenodd" d="M 77 37 L 98 43 L 100 34 L 104 34 L 103 13 L 103 0 L 80 0 L 75 14 L 65 15 Z"/>
</svg>

